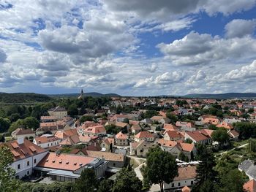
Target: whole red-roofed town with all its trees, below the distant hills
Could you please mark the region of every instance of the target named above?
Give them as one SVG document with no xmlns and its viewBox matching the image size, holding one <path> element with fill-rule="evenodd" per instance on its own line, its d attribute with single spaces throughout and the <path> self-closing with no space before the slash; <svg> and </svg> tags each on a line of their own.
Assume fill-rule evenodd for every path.
<svg viewBox="0 0 256 192">
<path fill-rule="evenodd" d="M 9 160 L 0 172 L 13 170 L 0 177 L 6 191 L 14 190 L 10 180 L 17 191 L 256 185 L 255 99 L 92 98 L 82 90 L 78 98 L 2 107 L 0 128 L 0 161 Z"/>
</svg>

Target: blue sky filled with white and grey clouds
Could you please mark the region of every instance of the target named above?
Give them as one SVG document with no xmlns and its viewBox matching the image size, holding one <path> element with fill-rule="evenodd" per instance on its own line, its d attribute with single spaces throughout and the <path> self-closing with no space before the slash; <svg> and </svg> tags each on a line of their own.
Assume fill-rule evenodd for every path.
<svg viewBox="0 0 256 192">
<path fill-rule="evenodd" d="M 0 92 L 256 92 L 256 0 L 0 0 Z"/>
</svg>

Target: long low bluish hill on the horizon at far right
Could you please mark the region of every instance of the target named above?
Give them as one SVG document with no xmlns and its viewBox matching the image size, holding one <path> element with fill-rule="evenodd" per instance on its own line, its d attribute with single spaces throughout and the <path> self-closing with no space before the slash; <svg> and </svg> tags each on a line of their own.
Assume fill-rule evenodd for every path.
<svg viewBox="0 0 256 192">
<path fill-rule="evenodd" d="M 235 99 L 235 98 L 256 98 L 256 93 L 220 93 L 220 94 L 188 94 L 184 97 L 187 98 L 200 98 L 200 99 Z"/>
</svg>

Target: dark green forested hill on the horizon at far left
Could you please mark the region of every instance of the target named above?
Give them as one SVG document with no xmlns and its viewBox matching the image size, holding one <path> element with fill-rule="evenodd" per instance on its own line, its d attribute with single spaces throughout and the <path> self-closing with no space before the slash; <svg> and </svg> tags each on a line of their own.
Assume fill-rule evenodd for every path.
<svg viewBox="0 0 256 192">
<path fill-rule="evenodd" d="M 51 98 L 37 93 L 0 93 L 0 103 L 48 102 Z"/>
</svg>

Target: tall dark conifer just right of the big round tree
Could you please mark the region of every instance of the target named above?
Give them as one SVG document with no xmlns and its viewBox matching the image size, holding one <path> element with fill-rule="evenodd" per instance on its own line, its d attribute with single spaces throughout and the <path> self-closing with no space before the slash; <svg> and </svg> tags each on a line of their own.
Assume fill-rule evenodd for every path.
<svg viewBox="0 0 256 192">
<path fill-rule="evenodd" d="M 197 165 L 197 176 L 193 191 L 201 191 L 203 188 L 205 190 L 213 189 L 217 185 L 217 172 L 213 169 L 214 166 L 216 166 L 216 162 L 212 151 L 204 147 L 200 154 L 200 164 Z"/>
</svg>

